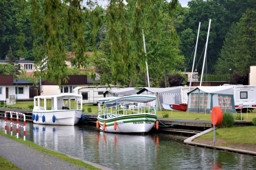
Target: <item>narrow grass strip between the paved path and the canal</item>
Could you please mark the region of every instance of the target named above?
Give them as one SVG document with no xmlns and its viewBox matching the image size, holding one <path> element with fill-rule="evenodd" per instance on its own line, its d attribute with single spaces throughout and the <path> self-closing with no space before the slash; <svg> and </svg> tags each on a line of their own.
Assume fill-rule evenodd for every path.
<svg viewBox="0 0 256 170">
<path fill-rule="evenodd" d="M 77 159 L 74 159 L 74 158 L 70 158 L 70 157 L 66 156 L 65 154 L 57 153 L 57 152 L 54 152 L 52 150 L 45 149 L 43 147 L 40 147 L 39 145 L 36 145 L 35 143 L 33 143 L 31 141 L 24 141 L 22 138 L 18 138 L 17 139 L 15 136 L 10 136 L 8 134 L 5 134 L 3 131 L 0 131 L 0 135 L 5 136 L 5 137 L 9 137 L 9 138 L 11 138 L 11 139 L 13 139 L 15 141 L 18 141 L 20 143 L 24 143 L 24 144 L 26 144 L 26 145 L 34 148 L 34 149 L 41 150 L 41 151 L 46 152 L 46 153 L 48 153 L 48 154 L 50 154 L 52 156 L 56 156 L 58 158 L 64 159 L 64 160 L 66 160 L 68 162 L 71 162 L 71 163 L 76 164 L 78 166 L 82 166 L 82 167 L 87 168 L 89 170 L 100 170 L 100 168 L 96 168 L 96 167 L 94 167 L 94 166 L 92 166 L 90 164 L 86 164 L 82 160 L 77 160 Z M 1 163 L 1 166 L 2 166 L 2 163 Z M 7 168 L 7 169 L 9 169 L 9 168 Z"/>
</svg>

